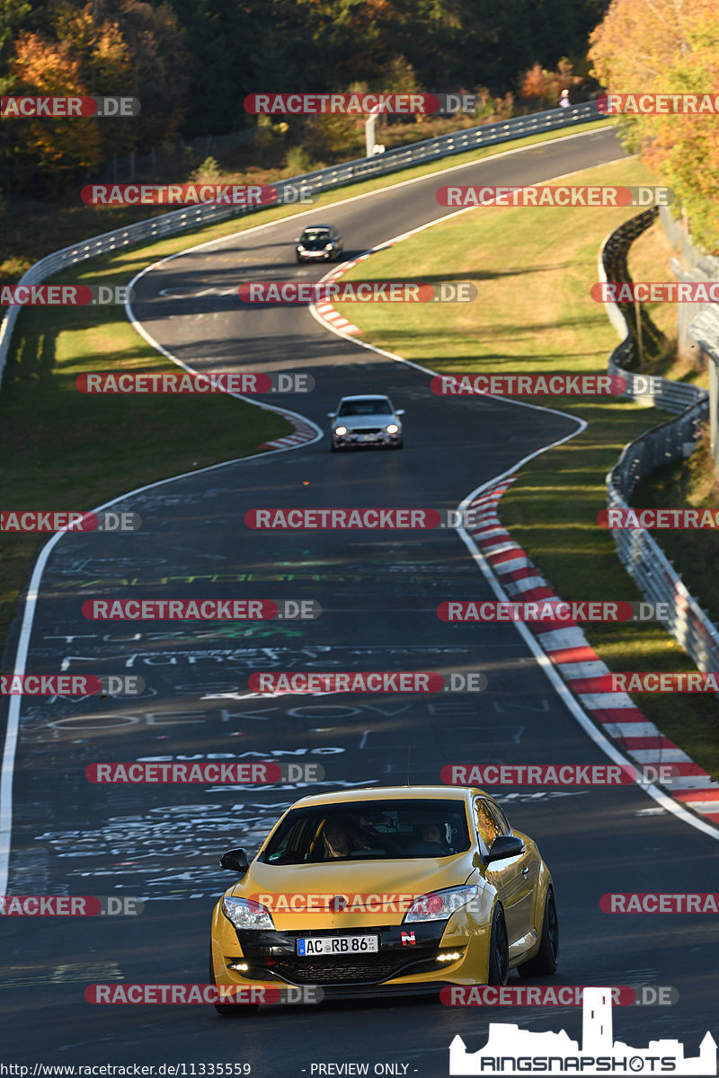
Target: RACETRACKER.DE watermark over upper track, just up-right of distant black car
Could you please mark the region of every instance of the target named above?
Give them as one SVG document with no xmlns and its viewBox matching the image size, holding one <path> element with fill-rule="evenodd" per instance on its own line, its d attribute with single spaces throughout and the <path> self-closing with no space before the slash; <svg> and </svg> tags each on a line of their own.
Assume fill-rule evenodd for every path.
<svg viewBox="0 0 719 1078">
<path fill-rule="evenodd" d="M 438 188 L 440 206 L 669 206 L 675 194 L 663 186 L 452 186 Z"/>
</svg>

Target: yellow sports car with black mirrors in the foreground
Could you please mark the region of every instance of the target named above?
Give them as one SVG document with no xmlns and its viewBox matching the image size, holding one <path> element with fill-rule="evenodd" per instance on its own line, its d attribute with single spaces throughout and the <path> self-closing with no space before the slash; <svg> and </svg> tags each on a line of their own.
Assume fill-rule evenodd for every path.
<svg viewBox="0 0 719 1078">
<path fill-rule="evenodd" d="M 218 986 L 315 985 L 323 996 L 361 997 L 556 969 L 550 871 L 482 790 L 388 786 L 302 798 L 250 865 L 244 849 L 220 865 L 241 879 L 212 917 Z"/>
</svg>

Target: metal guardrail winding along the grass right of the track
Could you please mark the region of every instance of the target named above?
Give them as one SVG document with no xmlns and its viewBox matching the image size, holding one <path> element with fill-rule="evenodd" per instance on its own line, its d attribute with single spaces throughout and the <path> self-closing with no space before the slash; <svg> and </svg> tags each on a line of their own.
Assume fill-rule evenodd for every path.
<svg viewBox="0 0 719 1078">
<path fill-rule="evenodd" d="M 605 279 L 608 271 L 613 280 L 628 280 L 626 253 L 630 244 L 649 227 L 655 210 L 640 213 L 625 222 L 608 237 L 599 255 L 600 273 Z M 607 257 L 605 258 L 605 252 Z M 620 276 L 613 276 L 620 274 Z M 608 369 L 627 379 L 624 397 L 634 397 L 633 386 L 639 374 L 628 371 L 636 365 L 635 343 L 624 312 L 616 304 L 612 323 L 619 328 L 624 322 L 625 336 L 611 353 Z M 638 399 L 680 415 L 662 423 L 625 445 L 622 454 L 607 475 L 607 507 L 628 509 L 628 499 L 637 484 L 655 468 L 687 455 L 688 446 L 696 443 L 702 425 L 709 414 L 709 395 L 697 386 L 661 378 L 653 396 Z M 638 396 L 638 395 L 637 395 Z M 697 600 L 689 593 L 666 554 L 645 528 L 611 528 L 617 552 L 642 595 L 654 603 L 664 603 L 668 617 L 662 624 L 669 631 L 701 671 L 719 671 L 719 630 L 711 622 Z"/>
</svg>

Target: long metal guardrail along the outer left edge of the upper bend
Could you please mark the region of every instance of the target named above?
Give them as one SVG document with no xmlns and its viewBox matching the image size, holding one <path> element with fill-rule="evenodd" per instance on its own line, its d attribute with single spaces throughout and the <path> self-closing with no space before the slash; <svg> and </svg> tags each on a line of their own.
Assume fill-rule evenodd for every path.
<svg viewBox="0 0 719 1078">
<path fill-rule="evenodd" d="M 496 146 L 524 136 L 544 134 L 562 127 L 573 127 L 602 119 L 605 119 L 604 113 L 597 110 L 594 101 L 572 105 L 568 109 L 531 112 L 526 116 L 516 116 L 513 120 L 504 120 L 494 124 L 480 124 L 478 127 L 467 127 L 450 135 L 425 139 L 423 142 L 413 142 L 411 146 L 397 147 L 395 150 L 388 150 L 386 153 L 373 157 L 360 157 L 357 161 L 320 168 L 314 172 L 305 172 L 289 180 L 279 180 L 273 183 L 273 186 L 277 189 L 278 203 L 281 203 L 281 193 L 288 186 L 302 184 L 305 190 L 319 194 L 322 191 L 332 191 L 335 188 L 358 183 L 375 176 L 399 171 L 412 165 L 421 165 L 439 157 L 448 157 L 453 154 L 466 153 L 468 150 Z M 124 229 L 106 232 L 100 236 L 93 236 L 92 239 L 86 239 L 82 244 L 55 251 L 30 266 L 20 278 L 19 284 L 39 285 L 58 271 L 84 262 L 86 259 L 97 258 L 98 254 L 108 254 L 142 240 L 161 239 L 164 236 L 190 232 L 204 224 L 213 224 L 229 217 L 243 217 L 262 208 L 266 207 L 208 204 L 171 210 L 169 213 L 162 213 L 147 221 L 137 221 Z M 2 373 L 8 359 L 13 328 L 20 309 L 19 305 L 9 307 L 0 328 L 0 384 L 2 383 Z"/>
</svg>

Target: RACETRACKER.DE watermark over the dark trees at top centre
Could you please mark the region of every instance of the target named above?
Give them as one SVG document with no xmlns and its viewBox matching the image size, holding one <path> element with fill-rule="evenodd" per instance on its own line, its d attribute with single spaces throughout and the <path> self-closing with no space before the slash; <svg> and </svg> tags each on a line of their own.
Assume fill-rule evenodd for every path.
<svg viewBox="0 0 719 1078">
<path fill-rule="evenodd" d="M 248 94 L 251 115 L 451 116 L 476 109 L 476 94 Z"/>
</svg>

